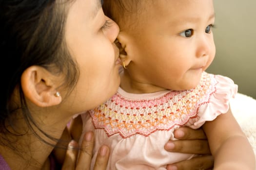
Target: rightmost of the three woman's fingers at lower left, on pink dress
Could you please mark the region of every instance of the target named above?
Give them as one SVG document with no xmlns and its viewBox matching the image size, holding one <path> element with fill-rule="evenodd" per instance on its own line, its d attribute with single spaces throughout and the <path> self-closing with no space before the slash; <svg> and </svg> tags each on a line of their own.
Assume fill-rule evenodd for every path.
<svg viewBox="0 0 256 170">
<path fill-rule="evenodd" d="M 107 146 L 101 146 L 98 151 L 96 162 L 94 164 L 94 170 L 106 170 L 109 158 L 109 148 Z"/>
</svg>

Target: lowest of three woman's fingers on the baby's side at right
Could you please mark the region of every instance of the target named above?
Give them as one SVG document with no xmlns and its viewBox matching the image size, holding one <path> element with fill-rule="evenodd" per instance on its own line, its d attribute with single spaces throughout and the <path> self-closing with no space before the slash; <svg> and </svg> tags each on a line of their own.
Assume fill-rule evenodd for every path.
<svg viewBox="0 0 256 170">
<path fill-rule="evenodd" d="M 212 170 L 214 158 L 211 155 L 204 155 L 168 165 L 167 170 Z"/>
</svg>

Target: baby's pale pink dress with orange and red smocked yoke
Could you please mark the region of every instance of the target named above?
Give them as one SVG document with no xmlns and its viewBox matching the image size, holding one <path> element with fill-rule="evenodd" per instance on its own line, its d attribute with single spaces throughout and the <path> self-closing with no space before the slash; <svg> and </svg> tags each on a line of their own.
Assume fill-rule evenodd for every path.
<svg viewBox="0 0 256 170">
<path fill-rule="evenodd" d="M 164 150 L 180 126 L 199 128 L 229 109 L 237 85 L 224 76 L 202 73 L 199 85 L 184 91 L 131 94 L 121 88 L 107 102 L 83 114 L 83 129 L 95 130 L 95 149 L 110 147 L 108 170 L 166 170 L 193 154 Z M 85 130 L 83 130 L 83 134 Z M 93 169 L 93 168 L 92 168 Z"/>
</svg>

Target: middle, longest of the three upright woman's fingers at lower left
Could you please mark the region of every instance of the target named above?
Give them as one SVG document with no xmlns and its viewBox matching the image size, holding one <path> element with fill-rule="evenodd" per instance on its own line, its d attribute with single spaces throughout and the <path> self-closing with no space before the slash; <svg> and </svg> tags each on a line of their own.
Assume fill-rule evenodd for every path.
<svg viewBox="0 0 256 170">
<path fill-rule="evenodd" d="M 90 170 L 94 146 L 93 132 L 87 132 L 83 136 L 78 158 L 77 170 Z"/>
</svg>

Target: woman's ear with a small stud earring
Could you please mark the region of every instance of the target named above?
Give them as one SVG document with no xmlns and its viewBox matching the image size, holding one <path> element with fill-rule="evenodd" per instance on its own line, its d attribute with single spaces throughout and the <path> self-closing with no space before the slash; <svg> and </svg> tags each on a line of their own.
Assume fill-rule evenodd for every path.
<svg viewBox="0 0 256 170">
<path fill-rule="evenodd" d="M 57 85 L 52 80 L 56 76 L 45 68 L 31 66 L 21 75 L 21 88 L 24 96 L 39 107 L 57 105 L 61 102 L 61 96 L 56 90 Z"/>
</svg>

